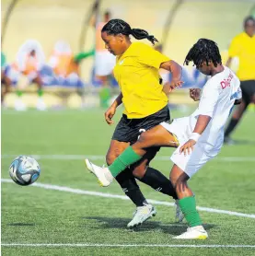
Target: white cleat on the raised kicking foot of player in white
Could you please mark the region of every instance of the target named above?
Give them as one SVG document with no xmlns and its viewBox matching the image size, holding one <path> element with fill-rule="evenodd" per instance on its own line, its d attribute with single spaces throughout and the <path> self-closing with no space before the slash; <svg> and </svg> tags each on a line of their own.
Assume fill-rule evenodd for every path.
<svg viewBox="0 0 255 256">
<path fill-rule="evenodd" d="M 110 169 L 96 166 L 92 164 L 88 159 L 85 159 L 85 164 L 87 169 L 98 178 L 99 185 L 101 187 L 108 187 L 110 185 L 114 179 L 110 173 Z"/>
</svg>

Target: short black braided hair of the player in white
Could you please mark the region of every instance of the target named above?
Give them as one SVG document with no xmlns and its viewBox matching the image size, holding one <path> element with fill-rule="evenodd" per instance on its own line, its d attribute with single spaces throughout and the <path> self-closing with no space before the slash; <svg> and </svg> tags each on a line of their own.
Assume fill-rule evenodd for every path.
<svg viewBox="0 0 255 256">
<path fill-rule="evenodd" d="M 212 61 L 214 66 L 217 64 L 222 64 L 221 55 L 217 44 L 209 39 L 200 39 L 191 48 L 190 52 L 187 54 L 184 64 L 189 64 L 193 62 L 194 65 L 200 67 L 203 62 L 208 63 Z"/>
</svg>

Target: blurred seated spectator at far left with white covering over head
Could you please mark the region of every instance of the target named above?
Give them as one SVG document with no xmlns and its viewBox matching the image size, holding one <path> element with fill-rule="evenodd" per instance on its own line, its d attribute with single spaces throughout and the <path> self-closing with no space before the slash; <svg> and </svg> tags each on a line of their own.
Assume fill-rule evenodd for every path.
<svg viewBox="0 0 255 256">
<path fill-rule="evenodd" d="M 45 56 L 42 51 L 39 41 L 28 40 L 25 41 L 17 52 L 16 62 L 8 66 L 6 70 L 6 76 L 11 80 L 12 84 L 16 85 L 20 75 L 24 75 L 28 78 L 29 84 L 35 83 L 38 87 L 38 102 L 37 109 L 44 111 L 46 105 L 42 99 L 42 80 L 40 71 L 45 64 Z M 17 111 L 26 110 L 26 105 L 22 101 L 22 91 L 17 88 L 17 100 L 15 102 L 15 109 Z"/>
</svg>

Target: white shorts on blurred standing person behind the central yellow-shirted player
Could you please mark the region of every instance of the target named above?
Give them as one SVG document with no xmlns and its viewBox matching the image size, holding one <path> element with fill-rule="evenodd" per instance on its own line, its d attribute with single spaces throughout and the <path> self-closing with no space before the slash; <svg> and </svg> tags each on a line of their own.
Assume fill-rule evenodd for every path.
<svg viewBox="0 0 255 256">
<path fill-rule="evenodd" d="M 96 76 L 109 76 L 116 64 L 116 57 L 110 52 L 96 52 L 95 74 Z"/>
</svg>

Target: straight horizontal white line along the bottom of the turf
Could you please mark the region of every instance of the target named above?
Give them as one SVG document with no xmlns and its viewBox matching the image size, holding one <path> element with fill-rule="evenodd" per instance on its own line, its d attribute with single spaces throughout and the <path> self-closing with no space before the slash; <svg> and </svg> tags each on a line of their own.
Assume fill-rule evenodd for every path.
<svg viewBox="0 0 255 256">
<path fill-rule="evenodd" d="M 92 244 L 92 243 L 3 243 L 6 247 L 163 247 L 163 248 L 254 248 L 255 245 L 221 245 L 221 244 Z"/>
</svg>

